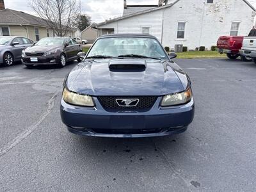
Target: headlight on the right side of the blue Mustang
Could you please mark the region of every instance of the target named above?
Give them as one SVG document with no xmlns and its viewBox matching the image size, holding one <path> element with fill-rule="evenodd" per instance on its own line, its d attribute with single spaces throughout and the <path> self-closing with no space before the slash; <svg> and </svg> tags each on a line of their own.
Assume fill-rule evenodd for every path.
<svg viewBox="0 0 256 192">
<path fill-rule="evenodd" d="M 165 95 L 162 99 L 161 106 L 177 106 L 189 102 L 192 98 L 192 91 L 189 87 L 185 92 Z"/>
</svg>

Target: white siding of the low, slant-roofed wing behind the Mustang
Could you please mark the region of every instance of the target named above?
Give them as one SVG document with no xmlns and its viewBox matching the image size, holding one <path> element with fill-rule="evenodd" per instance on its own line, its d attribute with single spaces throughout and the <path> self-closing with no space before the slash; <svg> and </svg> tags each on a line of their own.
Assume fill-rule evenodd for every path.
<svg viewBox="0 0 256 192">
<path fill-rule="evenodd" d="M 161 41 L 163 10 L 145 13 L 127 19 L 118 20 L 99 26 L 99 28 L 114 28 L 115 33 L 142 33 L 142 27 L 150 27 L 150 34 Z"/>
</svg>

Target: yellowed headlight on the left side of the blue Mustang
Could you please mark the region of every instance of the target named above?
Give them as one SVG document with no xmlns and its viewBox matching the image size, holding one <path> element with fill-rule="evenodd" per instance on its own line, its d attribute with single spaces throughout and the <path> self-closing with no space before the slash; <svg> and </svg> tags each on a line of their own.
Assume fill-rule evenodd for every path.
<svg viewBox="0 0 256 192">
<path fill-rule="evenodd" d="M 78 93 L 70 92 L 67 88 L 64 88 L 62 97 L 68 104 L 73 104 L 75 106 L 86 106 L 93 107 L 93 99 L 89 95 L 80 95 Z"/>
</svg>

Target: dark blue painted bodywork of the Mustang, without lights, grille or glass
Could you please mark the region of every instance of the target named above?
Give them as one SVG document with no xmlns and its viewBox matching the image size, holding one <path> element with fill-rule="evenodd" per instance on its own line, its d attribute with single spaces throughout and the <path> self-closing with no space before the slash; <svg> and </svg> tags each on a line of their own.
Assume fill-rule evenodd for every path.
<svg viewBox="0 0 256 192">
<path fill-rule="evenodd" d="M 154 37 L 149 36 L 149 38 Z M 112 63 L 143 64 L 146 68 L 138 72 L 113 72 L 109 70 L 109 65 Z M 68 130 L 76 134 L 106 137 L 164 136 L 186 131 L 195 113 L 193 99 L 180 106 L 160 107 L 163 95 L 184 92 L 188 86 L 191 86 L 187 74 L 171 60 L 87 59 L 68 74 L 64 86 L 72 92 L 91 95 L 95 102 L 94 108 L 86 108 L 72 106 L 61 100 L 61 119 L 68 126 Z M 98 96 L 141 95 L 157 96 L 154 106 L 149 111 L 108 112 L 102 108 L 97 99 Z M 95 132 L 93 131 L 95 129 L 107 130 L 107 133 Z M 120 129 L 131 132 L 111 133 L 111 130 Z M 138 129 L 146 133 L 132 134 L 132 131 Z M 155 129 L 161 130 L 147 133 Z"/>
</svg>

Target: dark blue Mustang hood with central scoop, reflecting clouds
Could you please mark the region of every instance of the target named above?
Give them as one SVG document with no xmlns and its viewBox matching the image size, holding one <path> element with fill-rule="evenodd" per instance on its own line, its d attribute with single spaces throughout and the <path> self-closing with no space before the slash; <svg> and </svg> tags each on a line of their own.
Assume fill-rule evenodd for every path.
<svg viewBox="0 0 256 192">
<path fill-rule="evenodd" d="M 156 60 L 84 61 L 70 72 L 66 86 L 72 92 L 95 96 L 182 92 L 187 84 L 182 84 L 171 66 L 172 62 Z M 186 74 L 182 76 L 187 79 Z"/>
</svg>

